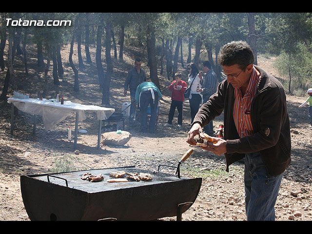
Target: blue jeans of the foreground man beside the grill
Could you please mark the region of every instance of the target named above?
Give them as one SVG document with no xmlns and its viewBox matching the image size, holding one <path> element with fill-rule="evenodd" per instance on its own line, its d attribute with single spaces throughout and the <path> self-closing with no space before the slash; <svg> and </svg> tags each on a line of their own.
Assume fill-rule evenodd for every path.
<svg viewBox="0 0 312 234">
<path fill-rule="evenodd" d="M 245 154 L 245 208 L 247 220 L 275 220 L 274 205 L 283 173 L 268 177 L 259 152 Z"/>
</svg>

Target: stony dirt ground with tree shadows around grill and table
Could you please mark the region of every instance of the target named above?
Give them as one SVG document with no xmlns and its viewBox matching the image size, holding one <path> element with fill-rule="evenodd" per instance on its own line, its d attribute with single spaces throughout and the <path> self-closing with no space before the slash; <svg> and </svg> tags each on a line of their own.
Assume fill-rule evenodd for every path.
<svg viewBox="0 0 312 234">
<path fill-rule="evenodd" d="M 32 48 L 28 48 L 29 51 Z M 90 48 L 92 58 L 95 58 L 95 48 Z M 79 69 L 80 92 L 73 91 L 73 72 L 66 60 L 69 50 L 62 51 L 64 59 L 64 79 L 59 87 L 54 87 L 51 81 L 51 92 L 47 98 L 55 98 L 56 89 L 66 100 L 82 104 L 100 105 L 101 92 L 98 87 L 95 59 L 92 64 L 85 63 L 84 69 Z M 104 53 L 104 52 L 103 52 Z M 30 53 L 29 53 L 30 54 Z M 114 61 L 114 75 L 111 81 L 111 105 L 120 112 L 121 104 L 130 101 L 129 95 L 123 96 L 123 82 L 127 71 L 132 67 L 134 58 L 141 51 L 126 47 L 124 62 Z M 112 56 L 114 56 L 112 54 Z M 102 56 L 102 58 L 105 58 Z M 16 57 L 15 66 L 22 64 L 22 57 Z M 78 62 L 76 60 L 78 67 Z M 278 74 L 273 69 L 273 59 L 259 56 L 258 65 L 274 76 Z M 149 69 L 145 62 L 142 68 Z M 179 69 L 186 77 L 185 68 Z M 19 79 L 19 90 L 35 98 L 43 87 L 44 71 L 38 72 L 36 61 L 29 57 L 29 74 L 25 76 L 16 71 Z M 52 72 L 50 76 L 52 80 Z M 165 74 L 165 73 L 164 73 Z M 0 220 L 22 221 L 30 220 L 24 208 L 21 191 L 20 175 L 38 175 L 51 173 L 56 165 L 57 157 L 76 157 L 75 166 L 88 165 L 92 168 L 108 168 L 135 165 L 138 168 L 156 170 L 159 164 L 177 165 L 180 157 L 191 148 L 186 143 L 187 132 L 190 129 L 189 103 L 184 104 L 183 126 L 178 128 L 177 113 L 173 127 L 164 127 L 167 122 L 170 107 L 170 92 L 167 86 L 170 81 L 164 75 L 158 75 L 163 93 L 163 100 L 158 115 L 156 134 L 139 133 L 139 124 L 129 124 L 125 121 L 124 131 L 132 134 L 132 138 L 122 147 L 101 146 L 97 148 L 98 121 L 94 113 L 87 113 L 87 119 L 78 123 L 78 129 L 87 133 L 78 134 L 78 151 L 74 154 L 73 141 L 67 140 L 68 126 L 75 126 L 75 115 L 65 120 L 49 131 L 44 130 L 42 119 L 38 118 L 36 134 L 32 133 L 32 116 L 18 112 L 15 119 L 14 134 L 10 135 L 11 104 L 0 102 Z M 0 74 L 3 83 L 4 74 Z M 67 82 L 65 82 L 67 80 Z M 2 87 L 1 87 L 2 89 Z M 306 97 L 287 96 L 289 116 L 292 131 L 292 163 L 285 171 L 285 176 L 275 204 L 275 216 L 278 221 L 312 220 L 312 167 L 311 147 L 312 129 L 310 128 L 307 106 L 298 109 Z M 222 123 L 222 116 L 214 121 L 215 129 Z M 120 124 L 120 123 L 119 123 Z M 120 125 L 119 125 L 120 126 Z M 181 165 L 182 176 L 199 176 L 203 183 L 195 203 L 182 215 L 182 220 L 222 221 L 246 220 L 244 206 L 243 163 L 237 162 L 230 166 L 226 173 L 224 156 L 215 156 L 200 148 L 193 147 L 194 153 Z M 175 172 L 173 172 L 174 174 Z M 164 217 L 161 220 L 176 220 L 176 217 Z"/>
</svg>

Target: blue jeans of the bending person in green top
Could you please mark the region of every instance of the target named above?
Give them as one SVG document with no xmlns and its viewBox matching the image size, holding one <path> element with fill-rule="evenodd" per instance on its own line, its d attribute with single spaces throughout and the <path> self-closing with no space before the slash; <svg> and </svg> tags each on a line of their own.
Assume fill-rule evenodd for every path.
<svg viewBox="0 0 312 234">
<path fill-rule="evenodd" d="M 142 91 L 140 97 L 140 118 L 141 118 L 141 132 L 147 132 L 149 129 L 150 133 L 155 133 L 156 116 L 157 116 L 157 105 L 158 105 L 158 92 L 154 91 L 155 100 L 153 101 L 152 93 L 150 90 Z M 149 128 L 147 126 L 147 107 L 151 105 L 151 118 Z"/>
</svg>

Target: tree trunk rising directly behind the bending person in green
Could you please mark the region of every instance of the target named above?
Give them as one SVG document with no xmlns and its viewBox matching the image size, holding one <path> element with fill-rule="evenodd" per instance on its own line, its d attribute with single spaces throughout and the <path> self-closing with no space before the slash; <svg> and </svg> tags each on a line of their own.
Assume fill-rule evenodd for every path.
<svg viewBox="0 0 312 234">
<path fill-rule="evenodd" d="M 155 28 L 152 25 L 147 27 L 147 56 L 150 65 L 150 78 L 160 90 L 159 80 L 157 76 L 156 49 L 155 49 Z"/>
</svg>

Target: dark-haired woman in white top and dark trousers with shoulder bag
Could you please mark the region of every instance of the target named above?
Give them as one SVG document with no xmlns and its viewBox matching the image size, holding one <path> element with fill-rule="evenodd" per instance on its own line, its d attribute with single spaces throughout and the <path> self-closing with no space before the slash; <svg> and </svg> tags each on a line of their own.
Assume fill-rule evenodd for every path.
<svg viewBox="0 0 312 234">
<path fill-rule="evenodd" d="M 200 78 L 198 77 L 198 68 L 194 62 L 187 64 L 187 70 L 189 72 L 189 84 L 191 94 L 189 97 L 190 108 L 191 108 L 191 123 L 193 123 L 194 117 L 199 110 L 199 105 L 202 102 L 202 95 L 197 92 L 197 89 L 201 88 Z"/>
</svg>

